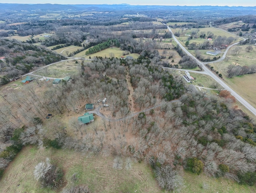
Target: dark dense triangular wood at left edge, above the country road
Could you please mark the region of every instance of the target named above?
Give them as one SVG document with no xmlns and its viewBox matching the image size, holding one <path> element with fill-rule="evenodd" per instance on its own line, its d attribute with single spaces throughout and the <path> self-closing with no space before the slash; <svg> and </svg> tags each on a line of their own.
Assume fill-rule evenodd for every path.
<svg viewBox="0 0 256 193">
<path fill-rule="evenodd" d="M 64 57 L 54 54 L 50 50 L 34 46 L 17 40 L 0 39 L 0 55 L 6 56 L 4 62 L 0 62 L 0 72 L 4 80 L 17 78 L 28 73 L 37 66 L 51 64 L 60 61 Z"/>
</svg>

